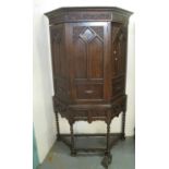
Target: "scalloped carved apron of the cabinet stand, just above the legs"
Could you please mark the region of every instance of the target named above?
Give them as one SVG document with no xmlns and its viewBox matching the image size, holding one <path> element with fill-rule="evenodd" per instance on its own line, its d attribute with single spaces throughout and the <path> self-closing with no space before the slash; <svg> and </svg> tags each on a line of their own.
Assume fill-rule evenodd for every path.
<svg viewBox="0 0 169 169">
<path fill-rule="evenodd" d="M 125 111 L 125 97 L 121 97 L 114 101 L 111 108 L 69 108 L 57 100 L 56 109 L 59 110 L 62 117 L 68 120 L 71 118 L 72 121 L 85 120 L 90 123 L 95 120 L 104 120 L 106 122 L 111 122 L 114 117 L 119 117 L 122 111 Z"/>
</svg>

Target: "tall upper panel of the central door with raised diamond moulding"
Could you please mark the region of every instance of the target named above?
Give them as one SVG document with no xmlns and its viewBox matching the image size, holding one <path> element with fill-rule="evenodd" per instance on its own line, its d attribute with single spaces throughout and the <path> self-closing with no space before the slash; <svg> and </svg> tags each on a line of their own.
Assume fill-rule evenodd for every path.
<svg viewBox="0 0 169 169">
<path fill-rule="evenodd" d="M 74 26 L 75 79 L 104 77 L 104 26 Z"/>
</svg>

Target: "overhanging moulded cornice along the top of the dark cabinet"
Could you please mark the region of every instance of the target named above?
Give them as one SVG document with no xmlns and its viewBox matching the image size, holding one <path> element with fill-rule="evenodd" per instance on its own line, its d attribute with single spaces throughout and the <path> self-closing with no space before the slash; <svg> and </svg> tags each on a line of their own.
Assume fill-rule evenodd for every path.
<svg viewBox="0 0 169 169">
<path fill-rule="evenodd" d="M 125 23 L 132 12 L 117 7 L 72 7 L 60 8 L 45 13 L 49 23 L 107 21 Z"/>
</svg>

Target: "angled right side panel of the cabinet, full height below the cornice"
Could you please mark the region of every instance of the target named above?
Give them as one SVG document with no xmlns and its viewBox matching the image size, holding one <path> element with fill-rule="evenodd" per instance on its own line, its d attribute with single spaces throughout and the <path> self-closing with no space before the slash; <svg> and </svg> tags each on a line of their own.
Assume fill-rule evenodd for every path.
<svg viewBox="0 0 169 169">
<path fill-rule="evenodd" d="M 112 23 L 112 97 L 124 94 L 126 65 L 126 28 Z"/>
</svg>

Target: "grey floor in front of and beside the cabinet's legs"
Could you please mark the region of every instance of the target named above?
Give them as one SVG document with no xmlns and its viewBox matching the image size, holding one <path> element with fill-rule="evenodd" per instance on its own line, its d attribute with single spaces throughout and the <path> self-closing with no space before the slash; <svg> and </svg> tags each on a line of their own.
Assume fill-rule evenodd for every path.
<svg viewBox="0 0 169 169">
<path fill-rule="evenodd" d="M 89 142 L 84 142 L 84 145 Z M 134 138 L 126 137 L 119 141 L 111 149 L 112 161 L 108 169 L 134 169 L 135 147 Z M 56 142 L 44 162 L 38 169 L 105 169 L 100 162 L 101 155 L 70 156 L 70 149 L 62 142 Z"/>
</svg>

